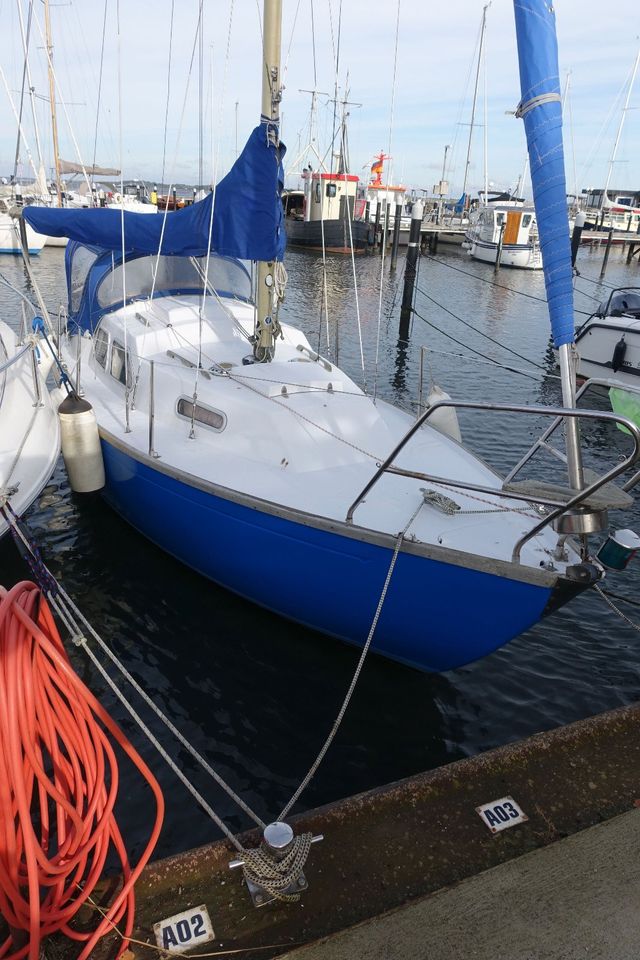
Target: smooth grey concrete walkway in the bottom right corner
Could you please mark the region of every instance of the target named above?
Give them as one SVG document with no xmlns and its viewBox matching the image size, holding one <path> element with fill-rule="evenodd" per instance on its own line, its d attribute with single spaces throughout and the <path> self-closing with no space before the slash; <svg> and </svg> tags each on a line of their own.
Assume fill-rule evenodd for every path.
<svg viewBox="0 0 640 960">
<path fill-rule="evenodd" d="M 637 960 L 640 810 L 281 956 Z"/>
</svg>

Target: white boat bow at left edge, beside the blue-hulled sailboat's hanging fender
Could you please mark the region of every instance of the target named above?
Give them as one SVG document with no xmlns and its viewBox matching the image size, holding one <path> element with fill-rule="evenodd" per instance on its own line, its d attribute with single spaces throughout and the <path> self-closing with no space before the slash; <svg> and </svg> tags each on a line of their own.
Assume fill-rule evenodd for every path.
<svg viewBox="0 0 640 960">
<path fill-rule="evenodd" d="M 20 516 L 53 473 L 60 453 L 57 408 L 46 387 L 46 355 L 34 336 L 0 320 L 0 537 L 5 510 Z M 39 362 L 42 361 L 42 362 Z"/>
</svg>

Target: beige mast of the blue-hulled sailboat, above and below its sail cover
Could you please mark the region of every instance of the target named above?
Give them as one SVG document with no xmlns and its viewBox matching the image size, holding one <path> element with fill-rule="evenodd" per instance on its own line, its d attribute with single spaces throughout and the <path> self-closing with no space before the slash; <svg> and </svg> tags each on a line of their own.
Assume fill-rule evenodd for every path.
<svg viewBox="0 0 640 960">
<path fill-rule="evenodd" d="M 264 0 L 262 30 L 262 116 L 266 135 L 278 137 L 280 121 L 280 46 L 282 30 L 282 0 Z M 275 261 L 258 261 L 256 295 L 256 332 L 253 345 L 254 359 L 268 363 L 275 353 L 279 324 L 273 316 Z"/>
</svg>

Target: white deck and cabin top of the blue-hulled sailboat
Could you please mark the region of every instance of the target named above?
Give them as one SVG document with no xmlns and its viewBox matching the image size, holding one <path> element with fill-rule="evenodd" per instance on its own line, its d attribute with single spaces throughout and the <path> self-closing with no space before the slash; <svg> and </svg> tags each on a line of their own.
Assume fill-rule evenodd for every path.
<svg viewBox="0 0 640 960">
<path fill-rule="evenodd" d="M 125 433 L 124 383 L 108 372 L 108 360 L 106 370 L 96 362 L 92 341 L 83 339 L 81 386 L 95 407 L 100 427 L 138 453 L 148 453 L 147 361 L 152 360 L 153 446 L 161 468 L 179 470 L 196 482 L 216 484 L 285 510 L 344 521 L 350 504 L 409 429 L 413 417 L 383 401 L 374 403 L 338 368 L 313 361 L 306 338 L 293 327 L 284 328 L 285 339 L 277 342 L 272 363 L 243 364 L 252 352 L 243 332 L 253 330 L 253 308 L 233 303 L 234 320 L 208 300 L 202 363 L 211 372 L 207 376 L 200 371 L 197 376 L 197 402 L 220 412 L 226 422 L 221 431 L 196 424 L 195 439 L 190 439 L 191 424 L 178 417 L 176 404 L 180 397 L 191 400 L 196 389 L 196 370 L 188 364 L 198 356 L 199 303 L 197 297 L 165 297 L 136 302 L 103 319 L 101 329 L 120 343 L 126 322 L 133 381 L 139 371 L 130 433 Z M 75 363 L 76 343 L 66 348 L 70 366 Z M 137 357 L 143 358 L 141 364 Z M 495 489 L 501 485 L 500 478 L 473 454 L 431 427 L 423 427 L 410 441 L 397 466 Z M 423 506 L 408 532 L 410 539 L 423 543 L 509 561 L 516 541 L 540 519 L 518 501 L 385 475 L 356 511 L 355 523 L 396 535 L 421 503 L 425 486 L 444 493 L 462 511 L 474 513 L 449 516 Z M 504 505 L 512 509 L 495 512 Z M 555 544 L 555 534 L 544 531 L 525 546 L 523 563 L 539 568 L 550 559 Z"/>
</svg>

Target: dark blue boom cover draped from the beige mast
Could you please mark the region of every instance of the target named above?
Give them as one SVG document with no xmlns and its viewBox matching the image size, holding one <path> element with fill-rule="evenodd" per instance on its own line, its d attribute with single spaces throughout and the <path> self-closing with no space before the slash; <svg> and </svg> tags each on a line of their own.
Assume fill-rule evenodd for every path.
<svg viewBox="0 0 640 960">
<path fill-rule="evenodd" d="M 226 177 L 199 203 L 168 213 L 124 214 L 117 209 L 25 207 L 22 215 L 34 230 L 69 237 L 105 250 L 201 257 L 209 249 L 240 260 L 282 260 L 286 245 L 282 201 L 285 147 L 274 143 L 275 127 L 261 123 Z M 213 229 L 211 244 L 211 206 Z M 166 222 L 165 222 L 166 221 Z M 164 226 L 164 229 L 163 229 Z"/>
</svg>

